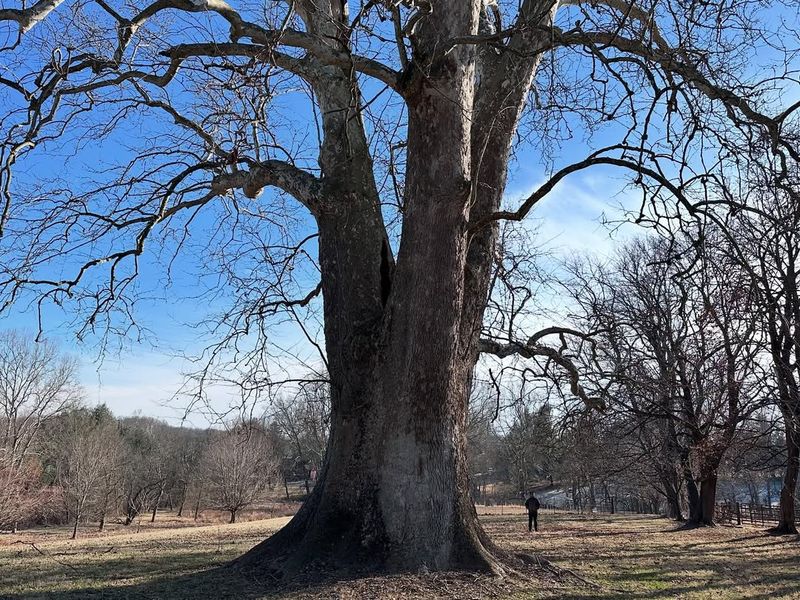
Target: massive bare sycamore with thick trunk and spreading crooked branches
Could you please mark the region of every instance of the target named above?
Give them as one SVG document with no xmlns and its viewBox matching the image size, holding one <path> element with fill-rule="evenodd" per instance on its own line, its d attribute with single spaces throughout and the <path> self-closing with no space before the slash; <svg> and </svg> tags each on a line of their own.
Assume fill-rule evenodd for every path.
<svg viewBox="0 0 800 600">
<path fill-rule="evenodd" d="M 239 564 L 276 575 L 314 559 L 500 570 L 468 493 L 480 352 L 562 369 L 572 393 L 599 401 L 566 344 L 547 343 L 577 332 L 481 338 L 497 223 L 598 165 L 632 172 L 647 214 L 661 218 L 718 205 L 707 184 L 734 160 L 729 140 L 766 138 L 796 160 L 781 131 L 797 106 L 777 106 L 793 76 L 796 9 L 768 4 L 4 7 L 4 300 L 72 302 L 81 333 L 114 333 L 132 317 L 140 265 L 162 258 L 171 277 L 175 248 L 203 236 L 204 258 L 218 259 L 236 300 L 220 318 L 222 344 L 261 343 L 269 317 L 297 315 L 321 293 L 325 465 L 291 523 Z M 762 64 L 754 49 L 765 39 Z M 307 108 L 281 104 L 303 93 Z M 559 160 L 559 140 L 581 129 L 590 150 Z M 102 146 L 95 168 L 72 162 L 102 140 L 116 147 Z M 518 207 L 501 205 L 512 148 L 525 141 L 551 176 Z M 317 286 L 291 275 L 314 245 Z"/>
</svg>

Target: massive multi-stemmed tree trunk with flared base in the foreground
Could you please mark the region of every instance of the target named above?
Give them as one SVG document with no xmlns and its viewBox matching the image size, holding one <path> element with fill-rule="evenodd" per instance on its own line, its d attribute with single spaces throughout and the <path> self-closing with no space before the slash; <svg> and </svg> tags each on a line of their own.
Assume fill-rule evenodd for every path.
<svg viewBox="0 0 800 600">
<path fill-rule="evenodd" d="M 304 14 L 309 29 L 336 45 L 346 30 L 335 26 L 339 3 L 315 6 L 326 14 Z M 502 571 L 469 494 L 467 402 L 495 240 L 493 227 L 474 233 L 469 225 L 499 206 L 539 57 L 517 61 L 519 78 L 494 55 L 498 93 L 473 111 L 475 49 L 444 49 L 448 40 L 477 32 L 480 6 L 452 3 L 415 29 L 414 63 L 404 74 L 408 144 L 396 264 L 356 108 L 357 84 L 348 70 L 332 68 L 313 83 L 324 133 L 322 200 L 312 212 L 320 233 L 331 433 L 317 483 L 295 518 L 235 566 L 274 577 L 311 571 L 317 561 L 340 575 Z M 532 48 L 528 40 L 519 45 Z"/>
</svg>

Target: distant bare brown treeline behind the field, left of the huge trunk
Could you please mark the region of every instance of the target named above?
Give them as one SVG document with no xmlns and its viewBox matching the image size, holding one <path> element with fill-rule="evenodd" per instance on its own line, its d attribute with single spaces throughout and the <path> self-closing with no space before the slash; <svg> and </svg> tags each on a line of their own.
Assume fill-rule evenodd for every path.
<svg viewBox="0 0 800 600">
<path fill-rule="evenodd" d="M 109 519 L 128 525 L 161 508 L 183 516 L 245 507 L 310 481 L 327 443 L 324 387 L 278 399 L 260 419 L 175 427 L 86 407 L 76 364 L 48 343 L 0 334 L 0 529 Z"/>
</svg>

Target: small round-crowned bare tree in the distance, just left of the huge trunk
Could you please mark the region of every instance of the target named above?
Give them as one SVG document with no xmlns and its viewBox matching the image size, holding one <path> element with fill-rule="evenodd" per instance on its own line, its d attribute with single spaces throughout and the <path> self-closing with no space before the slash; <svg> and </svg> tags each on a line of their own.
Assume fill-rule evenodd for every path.
<svg viewBox="0 0 800 600">
<path fill-rule="evenodd" d="M 230 513 L 258 500 L 278 470 L 278 460 L 263 431 L 237 424 L 213 440 L 202 461 L 204 493 L 211 506 Z"/>
</svg>

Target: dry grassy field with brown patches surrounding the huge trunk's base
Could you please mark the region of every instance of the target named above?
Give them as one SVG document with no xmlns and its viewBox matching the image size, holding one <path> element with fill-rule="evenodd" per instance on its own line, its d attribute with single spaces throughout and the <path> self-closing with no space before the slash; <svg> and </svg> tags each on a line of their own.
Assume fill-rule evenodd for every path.
<svg viewBox="0 0 800 600">
<path fill-rule="evenodd" d="M 557 569 L 497 580 L 464 574 L 375 577 L 264 592 L 264 582 L 213 571 L 288 518 L 199 527 L 162 517 L 70 541 L 66 529 L 0 535 L 3 599 L 222 598 L 799 598 L 800 540 L 758 529 L 677 531 L 665 519 L 545 514 L 529 535 L 519 514 L 487 509 L 502 546 Z M 508 513 L 508 509 L 503 509 Z M 546 563 L 543 563 L 546 565 Z M 555 572 L 554 572 L 555 571 Z"/>
</svg>

